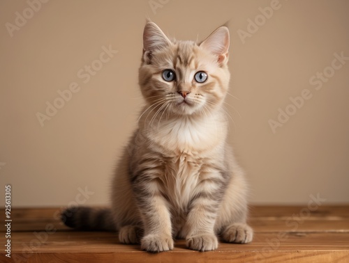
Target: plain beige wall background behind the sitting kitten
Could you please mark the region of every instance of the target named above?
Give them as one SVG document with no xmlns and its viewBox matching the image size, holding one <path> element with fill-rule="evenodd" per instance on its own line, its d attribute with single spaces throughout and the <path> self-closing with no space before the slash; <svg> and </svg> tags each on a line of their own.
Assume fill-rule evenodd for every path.
<svg viewBox="0 0 349 263">
<path fill-rule="evenodd" d="M 349 56 L 349 1 L 280 0 L 263 23 L 258 8 L 270 4 L 51 0 L 11 37 L 6 23 L 15 24 L 16 12 L 30 17 L 29 3 L 1 0 L 0 196 L 12 184 L 17 207 L 108 201 L 112 171 L 142 104 L 138 66 L 149 17 L 165 33 L 191 40 L 230 21 L 236 98 L 228 96 L 226 111 L 252 202 L 306 203 L 311 195 L 349 202 L 349 61 L 320 90 L 309 83 L 332 65 L 334 53 Z M 247 31 L 248 19 L 260 26 L 243 43 L 238 32 Z M 109 45 L 118 53 L 84 83 L 77 72 Z M 36 113 L 72 82 L 80 90 L 41 127 Z M 304 89 L 311 99 L 274 134 L 268 121 Z M 85 187 L 94 193 L 81 198 Z"/>
</svg>

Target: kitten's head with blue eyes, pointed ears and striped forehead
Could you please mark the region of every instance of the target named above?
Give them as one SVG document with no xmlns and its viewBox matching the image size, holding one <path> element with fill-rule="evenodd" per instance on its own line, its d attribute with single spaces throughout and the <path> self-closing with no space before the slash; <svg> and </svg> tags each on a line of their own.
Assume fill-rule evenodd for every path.
<svg viewBox="0 0 349 263">
<path fill-rule="evenodd" d="M 169 40 L 153 22 L 143 33 L 139 82 L 144 98 L 166 114 L 207 115 L 228 91 L 229 31 L 221 26 L 201 43 Z"/>
</svg>

